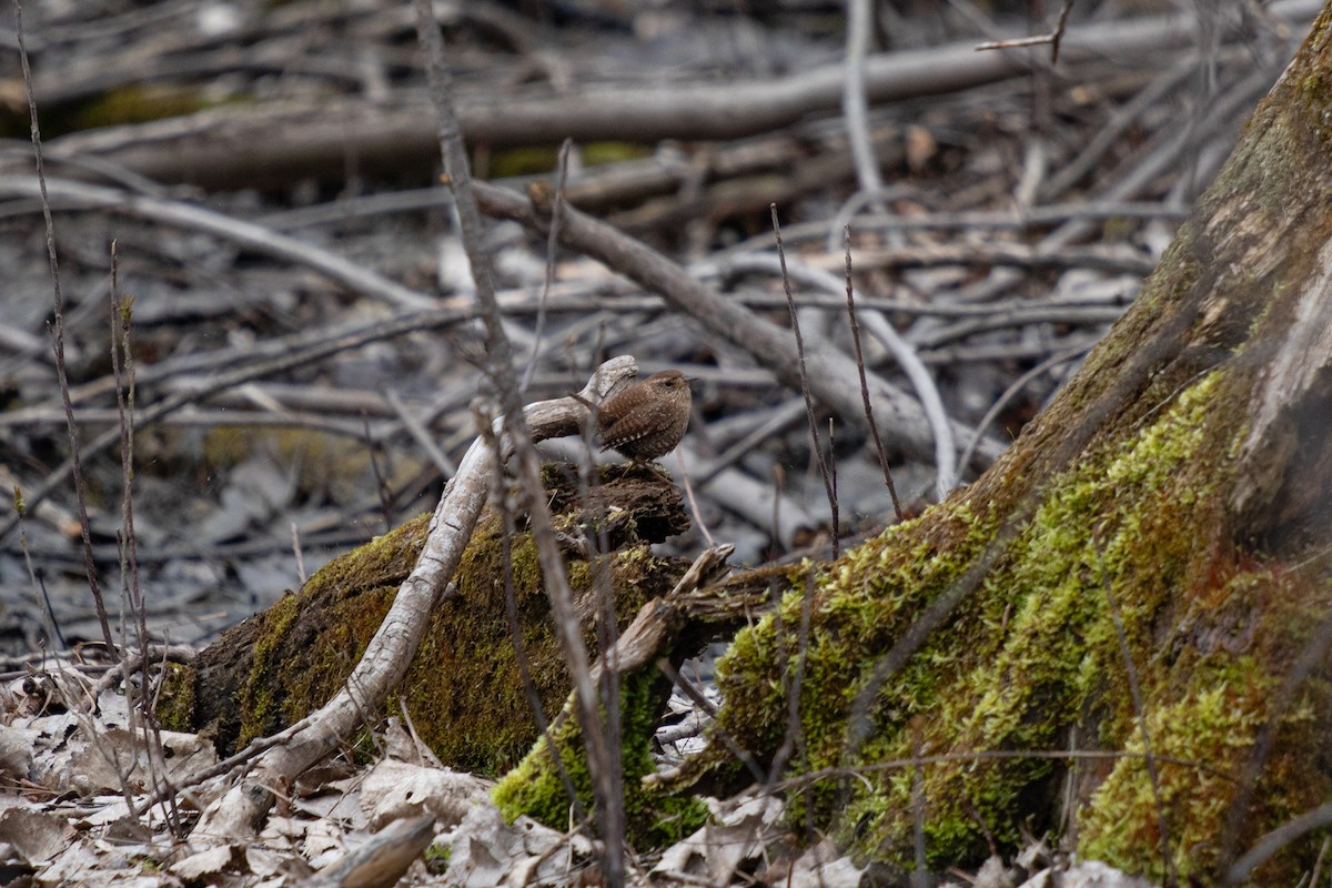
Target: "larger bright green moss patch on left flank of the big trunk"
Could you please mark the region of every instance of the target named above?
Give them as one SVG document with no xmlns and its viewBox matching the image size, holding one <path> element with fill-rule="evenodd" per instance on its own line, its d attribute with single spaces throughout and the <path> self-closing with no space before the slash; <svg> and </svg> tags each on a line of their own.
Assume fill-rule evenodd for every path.
<svg viewBox="0 0 1332 888">
<path fill-rule="evenodd" d="M 1103 743 L 1128 743 L 1134 719 L 1108 602 L 1143 663 L 1172 591 L 1189 583 L 1205 553 L 1205 541 L 1179 531 L 1207 526 L 1192 514 L 1215 507 L 1188 471 L 1192 461 L 1208 447 L 1229 451 L 1228 441 L 1209 438 L 1216 379 L 1185 389 L 1127 441 L 1092 449 L 1047 487 L 1011 541 L 960 498 L 811 575 L 817 619 L 799 703 L 809 760 L 791 772 L 954 754 L 923 770 L 919 791 L 928 800 L 931 859 L 959 861 L 982 856 L 987 833 L 1015 844 L 1020 817 L 1036 797 L 1054 801 L 1062 774 L 1050 759 L 968 752 L 1059 748 L 1078 726 Z M 850 754 L 847 716 L 876 667 L 864 652 L 890 650 L 982 553 L 992 559 L 984 580 L 874 695 L 863 714 L 871 730 Z M 803 595 L 794 588 L 779 614 L 742 634 L 718 664 L 727 699 L 721 730 L 747 748 L 774 750 L 785 736 L 791 670 L 778 667 L 779 648 L 794 663 Z M 1147 671 L 1144 684 L 1155 692 L 1167 675 Z M 864 781 L 826 785 L 806 800 L 862 856 L 910 863 L 914 783 L 906 767 L 868 771 Z M 798 804 L 797 816 L 803 809 Z"/>
</svg>

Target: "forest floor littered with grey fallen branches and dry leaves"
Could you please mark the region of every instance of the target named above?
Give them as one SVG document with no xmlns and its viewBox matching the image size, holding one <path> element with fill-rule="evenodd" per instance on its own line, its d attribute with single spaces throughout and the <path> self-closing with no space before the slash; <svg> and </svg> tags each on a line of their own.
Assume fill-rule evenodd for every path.
<svg viewBox="0 0 1332 888">
<path fill-rule="evenodd" d="M 742 318 L 789 328 L 794 312 L 811 367 L 863 347 L 895 410 L 879 417 L 882 449 L 846 406 L 858 395 L 838 397 L 854 378 L 813 381 L 811 411 L 795 355 L 758 347 L 743 324 L 682 310 L 517 222 L 486 232 L 525 399 L 575 391 L 615 354 L 694 377 L 690 430 L 663 459 L 687 479 L 694 527 L 661 549 L 726 542 L 734 563 L 761 564 L 895 521 L 880 457 L 910 515 L 1020 433 L 1132 302 L 1319 4 L 1236 4 L 1205 21 L 1167 3 L 1075 4 L 1058 61 L 1048 44 L 976 48 L 1048 32 L 1056 9 L 1027 21 L 1000 3 L 888 4 L 866 32 L 863 113 L 844 100 L 839 4 L 675 5 L 434 8 L 477 178 L 547 184 Z M 445 779 L 393 720 L 377 764 L 290 787 L 261 840 L 182 845 L 172 829 L 208 799 L 145 811 L 147 793 L 164 768 L 188 783 L 212 754 L 173 735 L 169 768 L 145 758 L 89 594 L 85 563 L 115 638 L 135 636 L 141 602 L 155 643 L 202 647 L 433 509 L 493 410 L 410 4 L 36 0 L 21 15 L 55 258 L 5 9 L 0 481 L 16 495 L 0 506 L 0 871 L 278 885 L 326 869 L 357 884 L 337 860 L 349 835 L 373 833 L 366 855 L 434 848 L 412 871 L 421 883 L 567 880 L 555 861 L 587 853 L 567 836 L 477 825 L 509 868 L 477 853 L 469 871 L 436 839 L 458 808 L 429 809 L 429 828 L 404 819 L 421 813 L 404 784 Z M 119 351 L 115 317 L 129 317 Z M 129 381 L 132 497 L 117 409 Z M 583 449 L 543 445 L 550 458 Z M 677 847 L 642 873 L 729 884 L 781 859 L 790 884 L 859 879 L 847 861 L 846 881 L 821 868 L 822 845 L 771 851 L 785 833 L 765 796 L 719 801 L 718 824 L 707 863 Z"/>
</svg>

